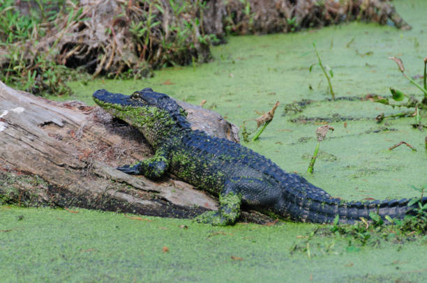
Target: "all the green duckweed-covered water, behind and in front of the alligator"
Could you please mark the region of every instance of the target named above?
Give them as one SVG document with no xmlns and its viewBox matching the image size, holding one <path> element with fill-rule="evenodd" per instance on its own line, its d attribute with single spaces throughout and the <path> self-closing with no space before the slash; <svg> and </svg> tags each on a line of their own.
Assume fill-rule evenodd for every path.
<svg viewBox="0 0 427 283">
<path fill-rule="evenodd" d="M 414 27 L 412 31 L 352 23 L 296 34 L 230 38 L 227 45 L 213 48 L 212 63 L 167 68 L 138 81 L 76 82 L 70 86 L 79 95 L 61 99 L 93 104 L 90 97 L 96 89 L 132 93 L 149 86 L 194 104 L 207 100 L 205 107 L 237 125 L 260 116 L 257 112 L 267 112 L 279 100 L 274 121 L 257 142 L 246 146 L 336 197 L 418 197 L 410 185 L 427 183 L 426 132 L 412 129 L 414 118 L 377 124 L 373 120 L 377 114 L 404 109 L 369 101 L 324 101 L 329 94 L 321 70 L 314 67 L 308 72 L 316 61 L 315 41 L 322 60 L 334 70 L 332 84 L 338 97 L 388 95 L 393 86 L 421 98 L 387 57 L 402 58 L 408 75 L 421 75 L 427 56 L 427 2 L 394 3 Z M 285 104 L 302 99 L 317 102 L 301 113 L 283 116 Z M 305 118 L 298 118 L 301 115 Z M 320 146 L 315 174 L 306 174 L 315 129 L 320 125 L 310 118 L 340 117 L 347 120 L 329 123 L 335 131 Z M 423 121 L 427 122 L 427 116 Z M 418 151 L 402 146 L 388 151 L 401 141 Z M 309 282 L 311 278 L 313 282 L 427 281 L 423 240 L 359 247 L 346 239 L 315 236 L 307 245 L 304 236 L 317 225 L 288 222 L 276 227 L 217 228 L 188 220 L 150 217 L 152 222 L 147 222 L 84 210 L 0 209 L 0 273 L 6 274 L 6 281 L 44 281 L 52 274 L 59 281 L 79 282 L 119 278 L 255 282 L 260 277 L 271 282 Z M 189 228 L 179 228 L 181 224 Z M 297 249 L 291 252 L 295 244 Z"/>
</svg>

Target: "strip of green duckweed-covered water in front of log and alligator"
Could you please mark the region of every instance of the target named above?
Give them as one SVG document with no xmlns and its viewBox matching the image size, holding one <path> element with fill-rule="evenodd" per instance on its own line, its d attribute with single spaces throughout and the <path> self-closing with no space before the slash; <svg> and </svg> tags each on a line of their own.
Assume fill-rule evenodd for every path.
<svg viewBox="0 0 427 283">
<path fill-rule="evenodd" d="M 425 282 L 426 244 L 349 245 L 313 227 L 0 206 L 0 282 Z M 306 244 L 304 244 L 306 248 Z M 397 280 L 397 281 L 396 281 Z"/>
</svg>

